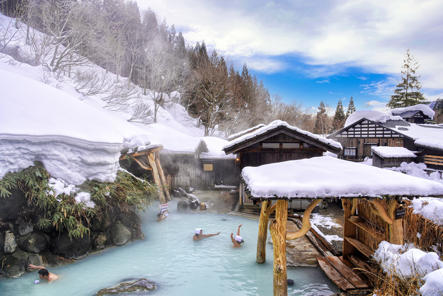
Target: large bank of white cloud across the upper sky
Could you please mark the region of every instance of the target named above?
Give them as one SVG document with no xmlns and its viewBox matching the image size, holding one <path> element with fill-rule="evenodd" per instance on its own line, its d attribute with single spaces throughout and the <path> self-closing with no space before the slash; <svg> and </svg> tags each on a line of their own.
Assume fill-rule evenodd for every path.
<svg viewBox="0 0 443 296">
<path fill-rule="evenodd" d="M 349 66 L 369 73 L 400 72 L 407 48 L 420 61 L 428 88 L 443 80 L 443 1 L 343 0 L 215 1 L 138 0 L 160 19 L 175 23 L 189 43 L 205 39 L 261 71 L 287 68 L 274 57 L 295 55 L 312 66 L 312 77 L 339 74 Z M 274 61 L 274 62 L 269 62 Z M 362 78 L 360 78 L 362 79 Z M 362 79 L 363 80 L 363 79 Z"/>
</svg>

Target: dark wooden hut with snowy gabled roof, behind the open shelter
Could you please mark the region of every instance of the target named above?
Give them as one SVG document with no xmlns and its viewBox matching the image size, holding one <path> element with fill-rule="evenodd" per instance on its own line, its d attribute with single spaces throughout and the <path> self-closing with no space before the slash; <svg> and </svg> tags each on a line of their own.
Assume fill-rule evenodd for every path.
<svg viewBox="0 0 443 296">
<path fill-rule="evenodd" d="M 284 121 L 274 121 L 230 141 L 223 150 L 226 154 L 237 155 L 236 173 L 240 175 L 244 167 L 323 156 L 326 151 L 338 153 L 341 147 L 333 140 L 303 131 Z M 253 201 L 248 199 L 240 183 L 242 204 L 253 204 Z"/>
</svg>

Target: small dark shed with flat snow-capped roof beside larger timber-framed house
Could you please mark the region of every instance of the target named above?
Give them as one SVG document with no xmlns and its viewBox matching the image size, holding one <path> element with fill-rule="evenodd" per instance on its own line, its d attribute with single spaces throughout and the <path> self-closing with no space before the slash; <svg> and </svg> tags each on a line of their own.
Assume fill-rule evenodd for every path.
<svg viewBox="0 0 443 296">
<path fill-rule="evenodd" d="M 372 147 L 373 167 L 400 167 L 403 162 L 417 162 L 417 156 L 404 147 Z"/>
</svg>

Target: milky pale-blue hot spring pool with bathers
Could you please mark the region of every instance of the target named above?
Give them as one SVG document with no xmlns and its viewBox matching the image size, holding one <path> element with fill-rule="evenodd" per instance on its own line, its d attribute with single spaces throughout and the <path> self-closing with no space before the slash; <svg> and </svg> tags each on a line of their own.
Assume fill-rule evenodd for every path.
<svg viewBox="0 0 443 296">
<path fill-rule="evenodd" d="M 101 288 L 139 278 L 155 283 L 155 290 L 124 295 L 272 295 L 272 245 L 266 244 L 265 264 L 255 261 L 258 220 L 207 212 L 179 214 L 176 204 L 170 202 L 171 214 L 163 222 L 156 222 L 156 205 L 142 214 L 143 241 L 49 268 L 59 276 L 51 284 L 34 284 L 37 272 L 17 279 L 1 278 L 0 295 L 92 296 Z M 243 224 L 240 234 L 245 243 L 234 249 L 229 235 L 236 234 L 239 224 Z M 197 227 L 204 234 L 221 234 L 193 241 Z M 319 268 L 288 268 L 288 278 L 294 280 L 289 295 L 328 296 L 338 292 Z"/>
</svg>

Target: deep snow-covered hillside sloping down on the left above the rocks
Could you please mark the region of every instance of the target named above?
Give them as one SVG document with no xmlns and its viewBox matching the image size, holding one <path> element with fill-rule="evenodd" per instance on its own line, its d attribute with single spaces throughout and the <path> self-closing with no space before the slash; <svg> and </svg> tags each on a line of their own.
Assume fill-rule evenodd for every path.
<svg viewBox="0 0 443 296">
<path fill-rule="evenodd" d="M 154 110 L 157 93 L 144 95 L 127 78 L 90 62 L 77 71 L 94 77 L 89 85 L 44 64 L 31 66 L 36 51 L 26 44 L 26 26 L 0 14 L 0 27 L 9 36 L 0 40 L 0 179 L 39 160 L 68 183 L 113 181 L 120 150 L 146 145 L 163 145 L 162 153 L 194 153 L 203 140 L 209 149 L 203 157 L 234 157 L 221 151 L 226 140 L 203 137 L 197 121 L 169 97 L 153 123 L 147 110 Z"/>
</svg>

